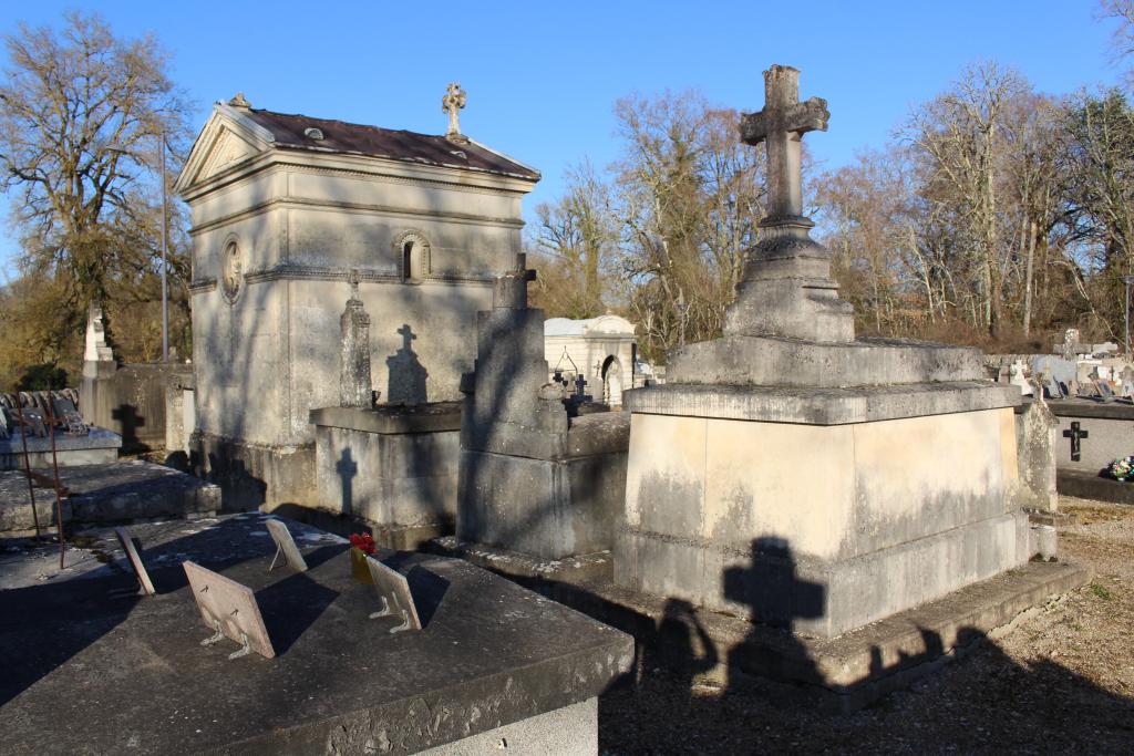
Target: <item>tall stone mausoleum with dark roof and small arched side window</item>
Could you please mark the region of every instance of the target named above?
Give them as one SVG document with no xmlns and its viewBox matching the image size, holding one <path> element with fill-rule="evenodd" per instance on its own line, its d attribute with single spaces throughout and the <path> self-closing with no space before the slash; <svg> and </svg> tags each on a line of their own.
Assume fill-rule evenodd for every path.
<svg viewBox="0 0 1134 756">
<path fill-rule="evenodd" d="M 310 413 L 340 405 L 348 297 L 370 317 L 382 402 L 460 398 L 476 312 L 521 250 L 540 175 L 462 135 L 459 94 L 446 135 L 237 95 L 197 137 L 176 186 L 192 220 L 195 444 L 234 503 L 319 504 Z"/>
</svg>

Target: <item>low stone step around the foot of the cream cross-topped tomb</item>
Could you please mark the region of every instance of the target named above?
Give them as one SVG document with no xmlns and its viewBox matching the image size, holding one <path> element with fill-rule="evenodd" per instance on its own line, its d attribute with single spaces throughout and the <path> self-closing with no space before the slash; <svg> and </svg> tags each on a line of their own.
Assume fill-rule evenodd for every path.
<svg viewBox="0 0 1134 756">
<path fill-rule="evenodd" d="M 541 587 L 517 579 L 631 632 L 644 653 L 655 653 L 668 665 L 689 664 L 689 648 L 709 644 L 710 656 L 718 660 L 717 666 L 703 672 L 710 679 L 734 681 L 752 676 L 758 682 L 788 683 L 779 693 L 806 705 L 852 712 L 908 687 L 983 638 L 1010 631 L 1030 611 L 1089 583 L 1091 569 L 1068 562 L 1029 562 L 830 639 L 794 635 L 703 608 L 691 608 L 685 621 L 674 621 L 672 600 L 606 580 L 565 580 Z"/>
</svg>

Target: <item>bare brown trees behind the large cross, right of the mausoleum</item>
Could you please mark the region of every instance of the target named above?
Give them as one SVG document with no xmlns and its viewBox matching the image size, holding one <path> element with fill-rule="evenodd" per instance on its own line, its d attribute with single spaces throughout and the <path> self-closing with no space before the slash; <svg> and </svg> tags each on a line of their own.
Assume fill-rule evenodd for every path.
<svg viewBox="0 0 1134 756">
<path fill-rule="evenodd" d="M 1131 3 L 1102 8 L 1123 19 L 1115 43 L 1126 52 Z M 642 352 L 665 362 L 721 332 L 764 212 L 763 150 L 739 143 L 738 112 L 696 92 L 627 97 L 615 114 L 619 159 L 570 171 L 564 195 L 536 209 L 534 299 L 551 316 L 621 312 Z M 881 150 L 831 171 L 805 156 L 804 173 L 857 333 L 1047 351 L 1075 326 L 1123 341 L 1134 275 L 1127 91 L 1055 96 L 980 62 Z"/>
</svg>

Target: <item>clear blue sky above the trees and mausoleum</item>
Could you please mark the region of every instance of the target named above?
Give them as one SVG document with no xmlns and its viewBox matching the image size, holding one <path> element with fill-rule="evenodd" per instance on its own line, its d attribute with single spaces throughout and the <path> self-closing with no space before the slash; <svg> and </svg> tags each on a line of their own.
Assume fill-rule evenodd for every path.
<svg viewBox="0 0 1134 756">
<path fill-rule="evenodd" d="M 441 134 L 448 82 L 468 93 L 462 130 L 543 172 L 525 203 L 556 197 L 564 170 L 618 153 L 618 97 L 701 90 L 742 110 L 763 104 L 761 71 L 802 70 L 801 94 L 830 104 L 809 137 L 824 168 L 879 147 L 919 102 L 968 62 L 993 58 L 1042 92 L 1114 84 L 1111 22 L 1097 0 L 948 2 L 54 2 L 5 3 L 18 22 L 100 12 L 119 36 L 152 31 L 204 122 L 243 91 L 254 107 Z M 2 58 L 2 52 L 0 52 Z M 2 61 L 7 65 L 7 61 Z M 7 205 L 0 197 L 0 212 Z M 0 227 L 0 281 L 15 272 Z"/>
</svg>

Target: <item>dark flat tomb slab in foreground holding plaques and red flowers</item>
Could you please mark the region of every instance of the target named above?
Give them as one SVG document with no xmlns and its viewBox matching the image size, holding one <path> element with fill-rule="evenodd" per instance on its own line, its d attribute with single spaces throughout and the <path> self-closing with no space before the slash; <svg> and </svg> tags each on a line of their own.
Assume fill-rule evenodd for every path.
<svg viewBox="0 0 1134 756">
<path fill-rule="evenodd" d="M 335 536 L 301 530 L 311 569 L 269 574 L 259 515 L 162 527 L 154 597 L 109 598 L 133 580 L 109 568 L 2 594 L 0 645 L 20 651 L 0 679 L 6 753 L 42 753 L 44 733 L 66 753 L 417 753 L 586 704 L 633 656 L 626 635 L 459 560 L 391 562 L 424 629 L 390 635 Z M 184 559 L 253 587 L 277 659 L 200 645 Z"/>
</svg>

